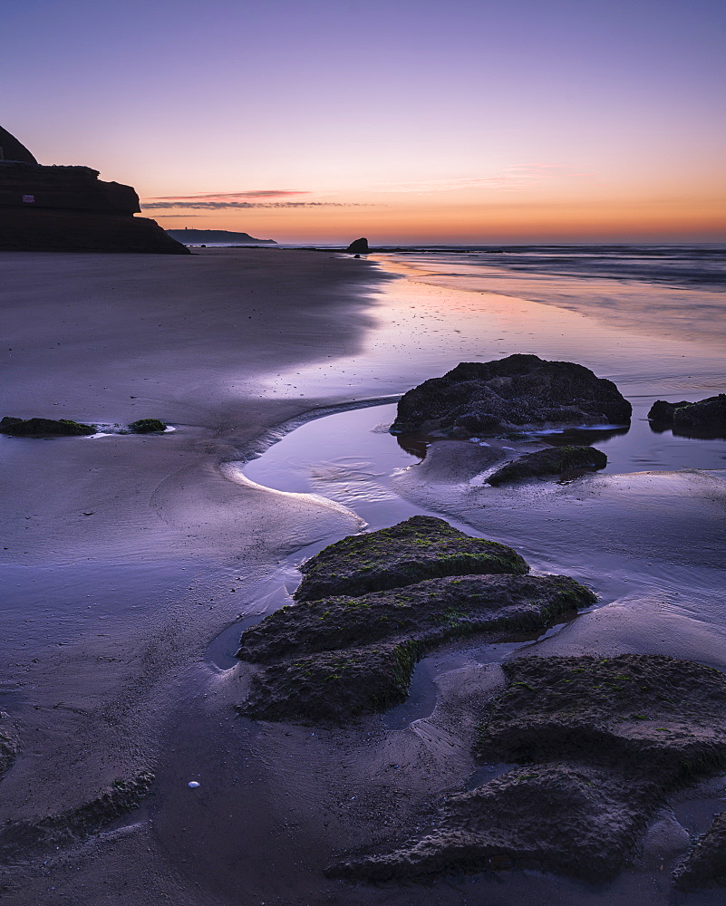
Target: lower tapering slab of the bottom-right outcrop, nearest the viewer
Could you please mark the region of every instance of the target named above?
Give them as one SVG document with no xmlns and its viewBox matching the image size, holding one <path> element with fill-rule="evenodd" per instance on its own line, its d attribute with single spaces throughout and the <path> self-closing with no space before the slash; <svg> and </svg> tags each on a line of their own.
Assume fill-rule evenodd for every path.
<svg viewBox="0 0 726 906">
<path fill-rule="evenodd" d="M 633 851 L 656 801 L 653 788 L 628 787 L 592 766 L 522 767 L 451 796 L 439 826 L 421 840 L 325 873 L 380 882 L 529 868 L 603 881 Z"/>
</svg>

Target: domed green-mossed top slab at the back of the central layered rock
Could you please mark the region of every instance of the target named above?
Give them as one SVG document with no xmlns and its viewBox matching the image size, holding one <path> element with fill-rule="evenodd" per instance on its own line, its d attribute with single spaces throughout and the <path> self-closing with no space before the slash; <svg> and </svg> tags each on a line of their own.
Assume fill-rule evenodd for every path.
<svg viewBox="0 0 726 906">
<path fill-rule="evenodd" d="M 435 516 L 405 522 L 329 545 L 300 567 L 297 601 L 332 594 L 364 594 L 443 575 L 527 573 L 507 545 L 472 538 Z"/>
</svg>

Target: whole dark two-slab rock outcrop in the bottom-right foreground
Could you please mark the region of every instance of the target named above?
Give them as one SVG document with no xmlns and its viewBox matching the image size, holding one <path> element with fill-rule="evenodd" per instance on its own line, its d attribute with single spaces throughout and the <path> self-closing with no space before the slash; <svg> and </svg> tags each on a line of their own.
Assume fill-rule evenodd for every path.
<svg viewBox="0 0 726 906">
<path fill-rule="evenodd" d="M 634 857 L 674 786 L 726 764 L 726 677 L 717 670 L 634 654 L 518 658 L 503 668 L 507 685 L 476 750 L 526 766 L 450 797 L 420 840 L 327 873 L 381 881 L 534 868 L 605 881 Z M 710 852 L 721 845 L 719 825 Z M 719 858 L 711 862 L 721 871 Z"/>
</svg>

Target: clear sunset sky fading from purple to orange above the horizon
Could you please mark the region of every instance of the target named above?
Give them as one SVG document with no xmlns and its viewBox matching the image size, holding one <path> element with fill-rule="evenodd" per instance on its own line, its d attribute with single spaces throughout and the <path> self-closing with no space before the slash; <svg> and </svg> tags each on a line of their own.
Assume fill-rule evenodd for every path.
<svg viewBox="0 0 726 906">
<path fill-rule="evenodd" d="M 5 0 L 0 125 L 162 226 L 726 238 L 722 0 Z"/>
</svg>

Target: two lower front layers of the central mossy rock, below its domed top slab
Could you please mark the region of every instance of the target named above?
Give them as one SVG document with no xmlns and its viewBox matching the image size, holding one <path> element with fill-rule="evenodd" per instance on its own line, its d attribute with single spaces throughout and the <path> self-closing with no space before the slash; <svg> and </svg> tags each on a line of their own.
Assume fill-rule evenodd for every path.
<svg viewBox="0 0 726 906">
<path fill-rule="evenodd" d="M 417 660 L 475 633 L 498 641 L 542 629 L 595 602 L 567 576 L 476 575 L 428 579 L 360 597 L 301 602 L 242 636 L 237 657 L 262 663 L 247 717 L 344 723 L 404 701 Z"/>
</svg>

